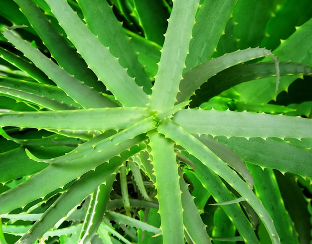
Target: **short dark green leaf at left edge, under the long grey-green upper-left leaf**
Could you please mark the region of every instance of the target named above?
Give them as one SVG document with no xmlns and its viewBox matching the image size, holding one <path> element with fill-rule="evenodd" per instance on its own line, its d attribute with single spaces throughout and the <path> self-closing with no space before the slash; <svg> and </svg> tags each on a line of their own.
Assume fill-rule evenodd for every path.
<svg viewBox="0 0 312 244">
<path fill-rule="evenodd" d="M 20 70 L 27 73 L 33 79 L 40 83 L 53 85 L 54 83 L 48 77 L 30 62 L 0 47 L 0 57 L 13 64 Z"/>
</svg>

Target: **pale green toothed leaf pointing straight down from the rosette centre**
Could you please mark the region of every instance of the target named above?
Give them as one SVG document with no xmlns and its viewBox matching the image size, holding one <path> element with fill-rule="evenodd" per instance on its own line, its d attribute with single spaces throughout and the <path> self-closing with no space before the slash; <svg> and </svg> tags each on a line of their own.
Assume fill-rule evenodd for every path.
<svg viewBox="0 0 312 244">
<path fill-rule="evenodd" d="M 155 130 L 148 135 L 152 147 L 163 243 L 184 243 L 181 190 L 173 142 Z"/>
</svg>

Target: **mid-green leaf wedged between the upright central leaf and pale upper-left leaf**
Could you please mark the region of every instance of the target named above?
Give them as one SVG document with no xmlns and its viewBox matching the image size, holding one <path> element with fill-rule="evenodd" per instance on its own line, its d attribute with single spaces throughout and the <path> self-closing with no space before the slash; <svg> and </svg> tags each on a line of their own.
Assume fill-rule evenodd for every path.
<svg viewBox="0 0 312 244">
<path fill-rule="evenodd" d="M 123 31 L 122 24 L 116 20 L 112 7 L 102 0 L 93 1 L 92 4 L 87 0 L 78 2 L 92 33 L 98 36 L 104 46 L 109 47 L 110 52 L 118 58 L 128 74 L 136 79 L 136 83 L 143 87 L 145 93 L 151 94 L 152 82 L 139 63 L 138 55 L 133 51 L 131 40 Z M 103 25 L 103 22 L 107 24 Z"/>
</svg>

